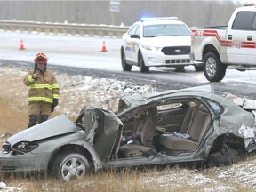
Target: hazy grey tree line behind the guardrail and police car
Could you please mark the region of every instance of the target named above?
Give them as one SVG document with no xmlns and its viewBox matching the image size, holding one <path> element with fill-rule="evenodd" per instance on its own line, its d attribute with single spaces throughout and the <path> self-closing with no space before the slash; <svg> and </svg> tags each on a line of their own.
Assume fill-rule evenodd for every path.
<svg viewBox="0 0 256 192">
<path fill-rule="evenodd" d="M 239 1 L 0 1 L 0 20 L 31 20 L 130 26 L 141 17 L 177 16 L 188 26 L 228 25 Z"/>
</svg>

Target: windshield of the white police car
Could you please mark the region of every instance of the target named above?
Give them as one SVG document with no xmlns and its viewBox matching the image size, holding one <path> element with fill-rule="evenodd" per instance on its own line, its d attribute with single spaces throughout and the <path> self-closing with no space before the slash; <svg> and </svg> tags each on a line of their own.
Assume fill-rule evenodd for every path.
<svg viewBox="0 0 256 192">
<path fill-rule="evenodd" d="M 184 24 L 149 25 L 144 26 L 143 36 L 190 36 L 190 30 Z"/>
</svg>

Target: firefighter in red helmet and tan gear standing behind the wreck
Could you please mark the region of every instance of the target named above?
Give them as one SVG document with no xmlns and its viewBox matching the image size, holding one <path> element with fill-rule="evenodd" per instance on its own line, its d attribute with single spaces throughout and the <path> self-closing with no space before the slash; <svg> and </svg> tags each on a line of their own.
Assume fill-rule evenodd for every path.
<svg viewBox="0 0 256 192">
<path fill-rule="evenodd" d="M 46 121 L 59 104 L 59 85 L 52 71 L 47 69 L 47 56 L 38 53 L 34 61 L 34 69 L 24 78 L 28 86 L 28 128 Z"/>
</svg>

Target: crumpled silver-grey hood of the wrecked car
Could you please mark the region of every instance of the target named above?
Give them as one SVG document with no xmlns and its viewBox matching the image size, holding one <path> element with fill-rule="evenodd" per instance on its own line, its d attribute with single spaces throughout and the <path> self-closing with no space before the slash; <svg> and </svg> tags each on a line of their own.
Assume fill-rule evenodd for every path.
<svg viewBox="0 0 256 192">
<path fill-rule="evenodd" d="M 12 145 L 20 141 L 35 141 L 66 134 L 70 132 L 76 132 L 80 128 L 68 119 L 68 116 L 60 115 L 49 119 L 41 124 L 23 130 L 14 134 L 7 141 Z"/>
</svg>

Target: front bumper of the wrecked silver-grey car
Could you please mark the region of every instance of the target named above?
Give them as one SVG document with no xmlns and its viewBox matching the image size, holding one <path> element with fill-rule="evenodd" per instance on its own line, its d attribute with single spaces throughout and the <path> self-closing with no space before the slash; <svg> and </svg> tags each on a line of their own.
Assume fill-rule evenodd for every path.
<svg viewBox="0 0 256 192">
<path fill-rule="evenodd" d="M 50 154 L 32 154 L 23 155 L 5 154 L 0 151 L 0 172 L 42 172 L 47 171 Z"/>
</svg>

